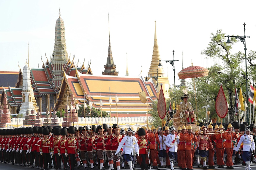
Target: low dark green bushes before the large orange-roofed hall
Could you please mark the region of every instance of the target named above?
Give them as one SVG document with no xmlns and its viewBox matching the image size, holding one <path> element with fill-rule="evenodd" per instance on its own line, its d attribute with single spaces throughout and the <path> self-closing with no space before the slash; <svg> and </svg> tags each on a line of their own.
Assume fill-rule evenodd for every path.
<svg viewBox="0 0 256 170">
<path fill-rule="evenodd" d="M 89 117 L 90 116 L 90 107 L 87 106 L 84 109 L 83 105 L 79 106 L 79 110 L 78 110 L 78 117 L 84 117 L 84 110 L 85 110 L 85 117 Z M 91 116 L 92 117 L 101 117 L 101 109 L 95 109 L 94 107 L 91 109 Z M 102 117 L 108 117 L 108 113 L 106 111 L 102 111 Z"/>
</svg>

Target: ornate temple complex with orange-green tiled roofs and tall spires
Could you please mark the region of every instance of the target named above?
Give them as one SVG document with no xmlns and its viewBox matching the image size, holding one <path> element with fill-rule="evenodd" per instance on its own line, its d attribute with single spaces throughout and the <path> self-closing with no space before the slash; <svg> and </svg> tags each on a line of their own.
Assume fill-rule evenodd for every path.
<svg viewBox="0 0 256 170">
<path fill-rule="evenodd" d="M 151 108 L 152 102 L 157 100 L 158 89 L 160 91 L 161 88 L 160 83 L 163 84 L 165 96 L 168 96 L 166 92 L 169 85 L 168 77 L 164 76 L 162 68 L 157 68 L 159 63 L 157 60 L 160 60 L 160 54 L 156 28 L 148 81 L 145 81 L 142 75 L 137 77 L 118 75 L 111 51 L 110 34 L 107 63 L 101 76 L 93 75 L 90 64 L 86 67 L 84 62 L 81 66 L 75 65 L 74 57 L 70 59 L 70 55 L 67 53 L 65 25 L 60 13 L 55 25 L 55 43 L 52 57 L 50 59 L 47 56 L 45 57 L 46 61 L 41 58 L 41 68 L 28 67 L 29 63 L 26 66 L 26 68 L 30 68 L 30 76 L 26 75 L 26 77 L 30 77 L 31 80 L 31 88 L 34 94 L 34 104 L 32 104 L 34 109 L 39 109 L 39 112 L 45 112 L 47 109 L 53 111 L 54 106 L 56 111 L 65 109 L 67 105 L 70 106 L 72 95 L 79 105 L 84 102 L 88 105 L 91 101 L 95 108 L 102 107 L 102 110 L 107 112 L 111 111 L 111 107 L 112 111 L 116 112 L 117 107 L 118 117 L 125 117 L 127 113 L 131 117 L 146 116 L 147 107 L 146 104 L 140 101 L 139 92 L 146 92 L 149 108 Z M 85 58 L 85 60 L 89 59 Z M 126 75 L 129 75 L 128 69 Z M 2 83 L 0 88 L 1 102 L 6 94 L 10 114 L 18 114 L 21 109 L 25 111 L 22 107 L 25 95 L 23 90 L 24 76 L 24 72 L 20 68 L 19 72 L 0 71 L 0 77 L 5 77 L 5 79 L 0 79 L 0 83 Z M 151 78 L 156 76 L 159 76 L 158 80 Z M 157 82 L 159 84 L 158 88 L 156 86 Z M 112 99 L 113 103 L 109 103 L 109 98 Z M 103 106 L 100 106 L 100 100 L 102 100 Z"/>
</svg>

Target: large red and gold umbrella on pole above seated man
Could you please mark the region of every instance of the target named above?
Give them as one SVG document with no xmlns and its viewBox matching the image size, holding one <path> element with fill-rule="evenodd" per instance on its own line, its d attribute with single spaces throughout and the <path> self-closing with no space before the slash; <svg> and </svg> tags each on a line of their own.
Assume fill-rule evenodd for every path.
<svg viewBox="0 0 256 170">
<path fill-rule="evenodd" d="M 208 73 L 209 73 L 208 69 L 200 66 L 193 66 L 193 63 L 191 63 L 191 66 L 184 68 L 180 72 L 178 72 L 178 76 L 180 79 L 193 78 L 194 90 L 195 90 L 195 78 L 206 77 L 208 76 Z M 195 107 L 197 111 L 196 92 L 195 92 Z"/>
</svg>

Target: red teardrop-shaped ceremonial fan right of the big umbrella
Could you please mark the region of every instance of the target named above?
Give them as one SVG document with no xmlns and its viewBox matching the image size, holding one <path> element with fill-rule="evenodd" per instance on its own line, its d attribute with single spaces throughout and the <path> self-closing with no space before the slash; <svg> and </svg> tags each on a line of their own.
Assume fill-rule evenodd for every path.
<svg viewBox="0 0 256 170">
<path fill-rule="evenodd" d="M 217 95 L 215 109 L 216 109 L 217 115 L 220 118 L 224 118 L 227 115 L 227 100 L 225 98 L 222 84 L 220 85 L 219 93 Z"/>
</svg>

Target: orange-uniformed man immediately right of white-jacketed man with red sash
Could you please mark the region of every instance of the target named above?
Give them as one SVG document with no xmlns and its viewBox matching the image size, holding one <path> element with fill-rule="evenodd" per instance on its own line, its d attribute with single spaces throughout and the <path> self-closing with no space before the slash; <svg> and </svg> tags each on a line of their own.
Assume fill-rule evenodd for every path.
<svg viewBox="0 0 256 170">
<path fill-rule="evenodd" d="M 181 127 L 181 133 L 179 136 L 179 143 L 178 143 L 178 166 L 179 169 L 187 170 L 187 164 L 186 164 L 186 147 L 185 147 L 185 131 L 186 127 L 183 125 Z"/>
</svg>

